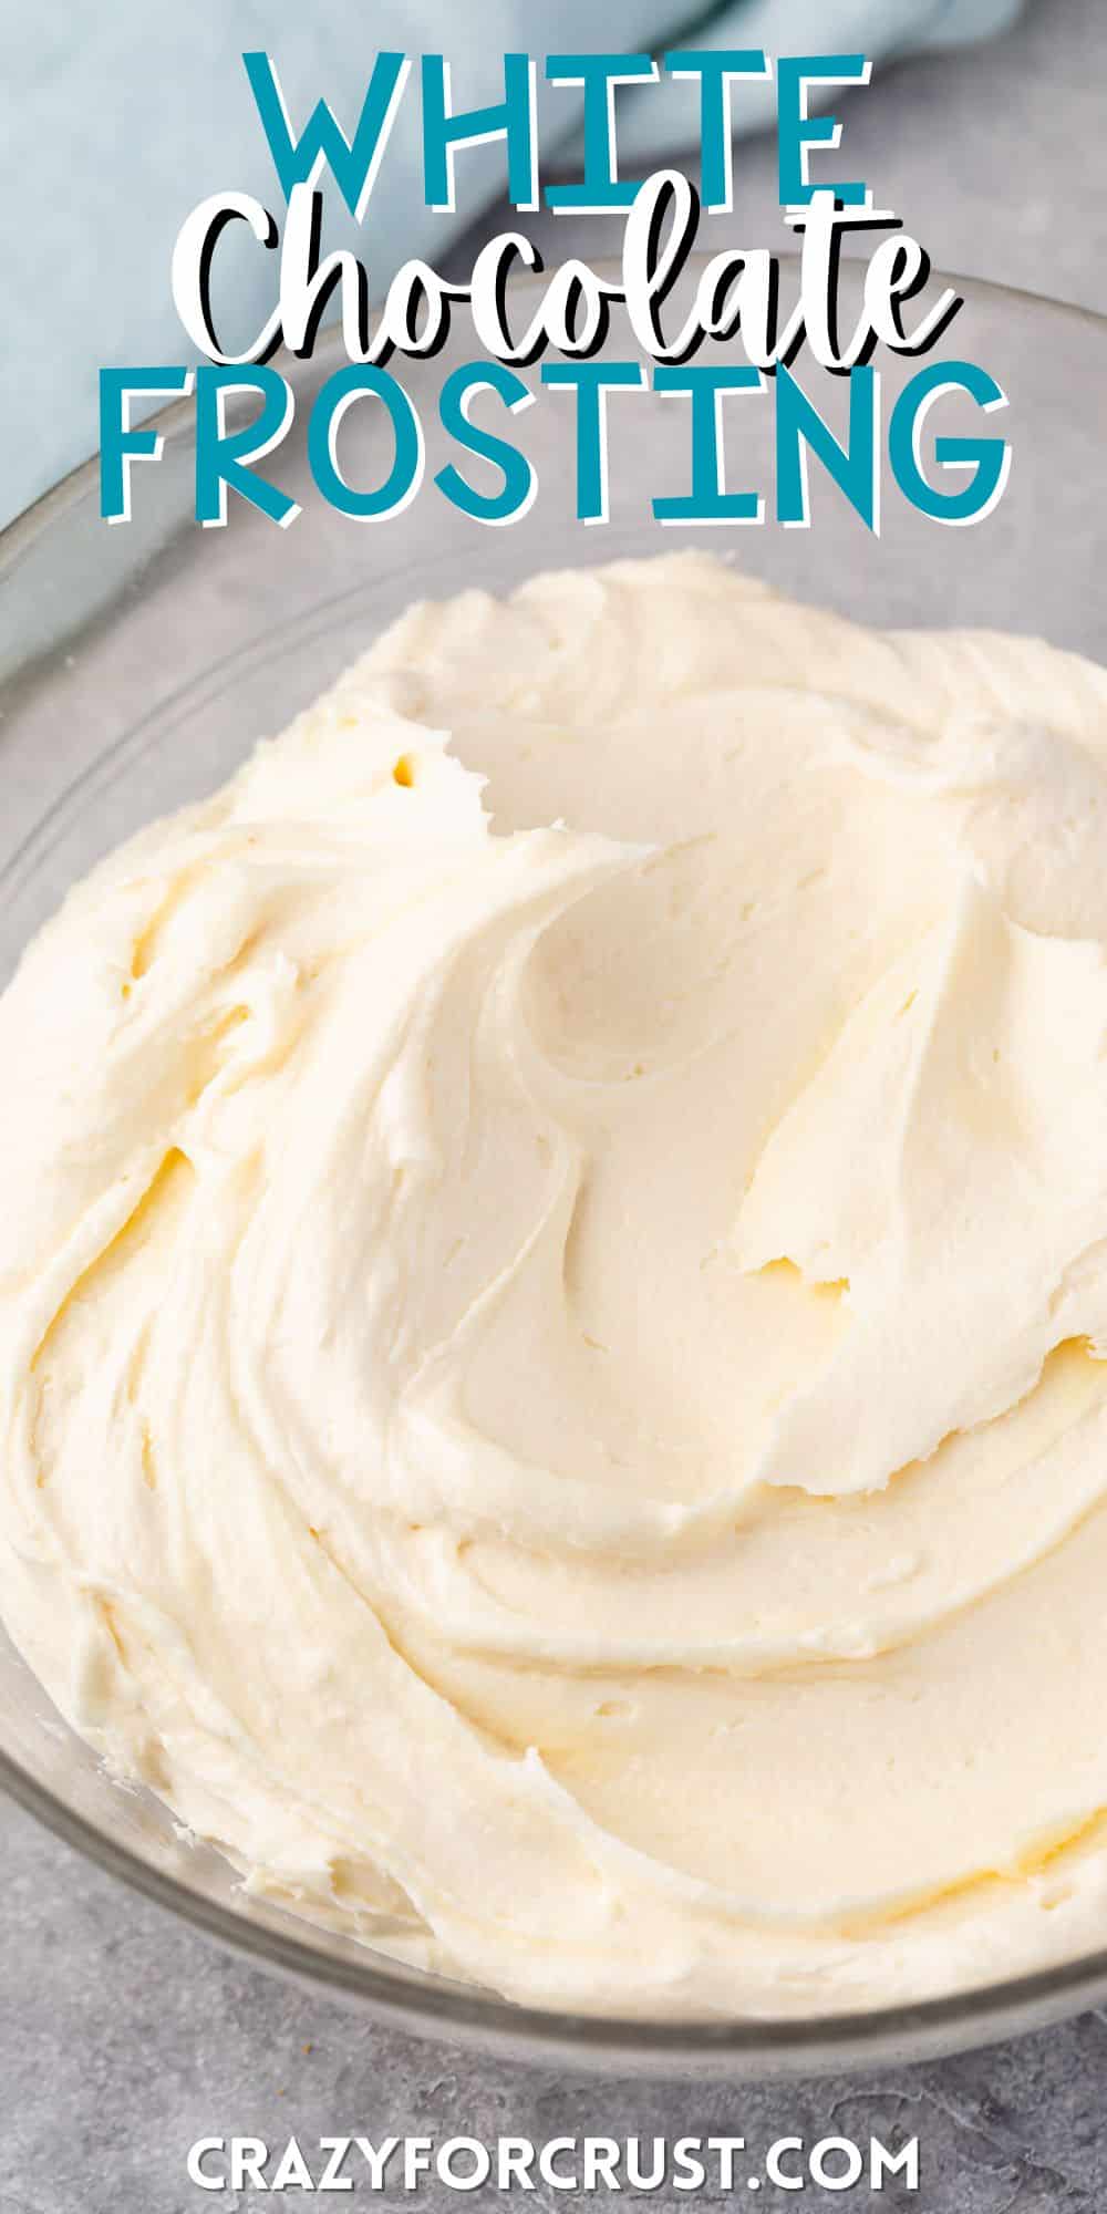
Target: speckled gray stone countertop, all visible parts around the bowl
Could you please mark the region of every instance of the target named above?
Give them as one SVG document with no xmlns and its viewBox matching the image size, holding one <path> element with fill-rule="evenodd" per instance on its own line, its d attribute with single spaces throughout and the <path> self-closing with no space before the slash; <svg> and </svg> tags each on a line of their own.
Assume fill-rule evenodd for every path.
<svg viewBox="0 0 1107 2214">
<path fill-rule="evenodd" d="M 370 33 L 368 33 L 370 35 Z M 1103 113 L 1107 7 L 1030 0 L 979 53 L 886 71 L 841 100 L 850 175 L 879 186 L 945 268 L 1098 306 L 1107 268 Z M 939 155 L 934 153 L 934 117 Z M 1083 146 L 1083 155 L 1080 155 Z M 742 235 L 770 235 L 773 151 L 737 157 Z M 489 217 L 489 230 L 503 215 Z M 536 224 L 540 237 L 542 224 Z M 542 244 L 542 239 L 540 239 Z M 602 250 L 558 226 L 549 257 Z M 613 241 L 607 241 L 613 244 Z M 261 2214 L 252 2190 L 206 2196 L 186 2179 L 204 2134 L 314 2145 L 341 2132 L 742 2134 L 921 2139 L 921 2190 L 879 2201 L 925 2214 L 1103 2214 L 1107 2015 L 923 2068 L 744 2086 L 589 2079 L 507 2066 L 379 2030 L 361 2015 L 226 1957 L 0 1804 L 0 2214 Z M 467 2201 L 425 2183 L 427 2210 Z M 757 2207 L 857 2205 L 766 2185 Z M 339 2201 L 343 2203 L 343 2201 Z M 376 2203 L 407 2203 L 383 2194 Z M 569 2196 L 534 2194 L 542 2207 Z M 651 2205 L 717 2196 L 658 2192 Z M 737 2203 L 737 2201 L 735 2201 Z"/>
</svg>

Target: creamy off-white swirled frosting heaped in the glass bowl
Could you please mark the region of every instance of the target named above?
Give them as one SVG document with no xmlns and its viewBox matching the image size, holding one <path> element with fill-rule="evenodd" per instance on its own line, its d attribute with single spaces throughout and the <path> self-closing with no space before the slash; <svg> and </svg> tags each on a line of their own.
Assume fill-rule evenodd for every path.
<svg viewBox="0 0 1107 2214">
<path fill-rule="evenodd" d="M 0 1003 L 0 1601 L 511 1997 L 1107 1942 L 1107 675 L 702 556 L 412 609 Z"/>
</svg>

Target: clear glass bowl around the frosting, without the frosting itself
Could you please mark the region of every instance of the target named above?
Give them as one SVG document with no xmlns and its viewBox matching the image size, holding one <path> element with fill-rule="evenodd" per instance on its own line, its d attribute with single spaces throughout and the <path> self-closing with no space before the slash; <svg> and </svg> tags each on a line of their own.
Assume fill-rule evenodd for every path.
<svg viewBox="0 0 1107 2214">
<path fill-rule="evenodd" d="M 0 540 L 0 981 L 77 875 L 148 817 L 226 777 L 259 735 L 286 724 L 416 596 L 474 582 L 505 591 L 540 567 L 700 540 L 863 622 L 996 624 L 1107 662 L 1107 514 L 1098 485 L 1107 321 L 954 283 L 965 303 L 943 350 L 999 379 L 1010 407 L 990 427 L 1003 425 L 1014 445 L 1005 498 L 976 529 L 928 523 L 886 472 L 883 536 L 875 540 L 813 465 L 810 529 L 768 520 L 762 529 L 662 531 L 651 498 L 686 489 L 689 401 L 653 392 L 613 394 L 611 518 L 582 529 L 573 514 L 573 401 L 540 390 L 538 372 L 529 372 L 536 405 L 511 423 L 538 467 L 538 498 L 511 529 L 485 529 L 432 483 L 447 458 L 436 427 L 438 387 L 458 359 L 476 352 L 465 330 L 436 361 L 401 365 L 425 423 L 427 476 L 387 525 L 337 516 L 308 476 L 306 416 L 341 361 L 334 337 L 314 361 L 290 365 L 294 425 L 266 461 L 301 500 L 290 529 L 277 531 L 241 500 L 230 503 L 226 529 L 195 527 L 188 403 L 159 418 L 162 461 L 135 465 L 131 525 L 108 529 L 100 520 L 97 469 L 77 469 Z M 784 286 L 795 286 L 795 261 L 784 268 Z M 855 288 L 848 272 L 846 294 Z M 611 352 L 635 352 L 620 328 Z M 886 418 L 914 368 L 881 361 Z M 828 383 L 817 383 L 821 407 Z M 839 381 L 839 421 L 844 399 Z M 487 403 L 489 427 L 498 405 Z M 365 403 L 343 427 L 354 483 L 387 472 L 381 414 Z M 724 425 L 728 487 L 770 494 L 770 399 L 728 399 Z M 961 418 L 948 427 L 968 425 Z M 1105 1951 L 1045 1973 L 848 2017 L 675 2026 L 509 2006 L 405 1970 L 248 1897 L 221 1855 L 184 1840 L 155 1798 L 102 1771 L 2 1634 L 0 1782 L 69 1844 L 239 1953 L 410 2030 L 514 2055 L 562 2052 L 578 2068 L 839 2070 L 983 2044 L 1107 1999 L 1105 1931 Z"/>
</svg>

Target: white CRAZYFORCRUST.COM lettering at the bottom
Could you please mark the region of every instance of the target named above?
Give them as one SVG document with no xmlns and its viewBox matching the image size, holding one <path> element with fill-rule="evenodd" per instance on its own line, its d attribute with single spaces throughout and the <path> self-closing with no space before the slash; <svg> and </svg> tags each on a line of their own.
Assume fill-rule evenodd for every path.
<svg viewBox="0 0 1107 2214">
<path fill-rule="evenodd" d="M 782 2192 L 801 2192 L 815 2183 L 821 2192 L 848 2192 L 868 2181 L 872 2192 L 894 2176 L 901 2190 L 919 2190 L 919 2139 L 908 2137 L 892 2150 L 879 2137 L 859 2145 L 852 2137 L 821 2137 L 810 2150 L 801 2137 L 777 2137 L 762 2170 L 737 2172 L 744 2137 L 551 2137 L 536 2145 L 529 2137 L 498 2137 L 485 2145 L 478 2137 L 321 2137 L 310 2148 L 314 2165 L 297 2137 L 279 2150 L 263 2137 L 197 2137 L 188 2148 L 188 2181 L 201 2192 L 352 2192 L 365 2183 L 372 2192 L 387 2187 L 418 2192 L 423 2176 L 434 2176 L 452 2192 L 746 2192 L 762 2181 Z"/>
</svg>

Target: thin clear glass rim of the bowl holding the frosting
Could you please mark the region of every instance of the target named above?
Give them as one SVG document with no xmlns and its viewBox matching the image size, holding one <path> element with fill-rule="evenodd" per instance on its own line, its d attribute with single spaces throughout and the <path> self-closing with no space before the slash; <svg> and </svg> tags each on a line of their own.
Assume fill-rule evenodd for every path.
<svg viewBox="0 0 1107 2214">
<path fill-rule="evenodd" d="M 691 257 L 689 270 L 708 257 Z M 797 272 L 795 252 L 779 255 L 782 270 Z M 598 272 L 611 277 L 618 261 L 598 257 Z M 547 272 L 549 275 L 549 272 Z M 514 290 L 540 288 L 547 275 L 520 272 Z M 1107 343 L 1107 317 L 1074 301 L 1049 299 L 1018 286 L 932 270 L 932 281 L 952 286 L 961 297 L 1007 301 L 1012 308 L 1054 321 L 1058 328 L 1096 332 Z M 312 363 L 339 365 L 345 354 L 341 332 L 328 330 L 314 348 Z M 312 363 L 288 363 L 286 374 Z M 164 438 L 186 436 L 190 403 L 173 401 L 148 416 Z M 49 492 L 0 529 L 0 580 L 20 560 L 33 538 L 64 523 L 66 511 L 97 485 L 97 454 L 80 463 Z M 241 651 L 259 640 L 244 640 Z M 166 708 L 170 700 L 162 700 Z M 633 2019 L 613 2015 L 569 2015 L 536 2006 L 516 2006 L 480 1988 L 467 1990 L 441 1979 L 410 1979 L 401 1968 L 365 1948 L 363 1959 L 334 1955 L 310 1942 L 310 1924 L 301 1937 L 292 1917 L 288 1933 L 252 1922 L 217 1900 L 193 1891 L 175 1875 L 153 1866 L 108 1831 L 75 1813 L 49 1791 L 22 1762 L 0 1749 L 0 1789 L 42 1822 L 55 1838 L 84 1853 L 108 1875 L 179 1915 L 217 1944 L 246 1962 L 275 1968 L 317 1993 L 348 2004 L 361 2004 L 370 2015 L 396 2030 L 421 2037 L 447 2037 L 467 2046 L 500 2052 L 511 2059 L 565 2059 L 593 2070 L 627 2070 L 649 2075 L 731 2072 L 735 2077 L 801 2075 L 870 2066 L 879 2059 L 925 2059 L 970 2046 L 994 2044 L 1001 2037 L 1027 2032 L 1065 2015 L 1076 2015 L 1107 1999 L 1107 1946 L 1030 1975 L 1003 1977 L 937 1999 L 919 1999 L 888 2008 L 863 2008 L 848 2015 L 813 2015 L 799 2019 Z"/>
</svg>

